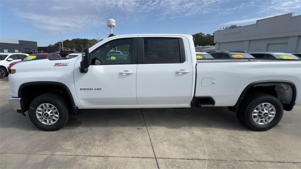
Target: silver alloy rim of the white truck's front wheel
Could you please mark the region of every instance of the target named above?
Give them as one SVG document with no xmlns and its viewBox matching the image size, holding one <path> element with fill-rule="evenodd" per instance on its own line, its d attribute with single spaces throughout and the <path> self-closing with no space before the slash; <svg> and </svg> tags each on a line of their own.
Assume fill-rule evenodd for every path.
<svg viewBox="0 0 301 169">
<path fill-rule="evenodd" d="M 36 109 L 36 117 L 42 124 L 52 125 L 57 122 L 59 113 L 52 104 L 43 103 Z"/>
</svg>

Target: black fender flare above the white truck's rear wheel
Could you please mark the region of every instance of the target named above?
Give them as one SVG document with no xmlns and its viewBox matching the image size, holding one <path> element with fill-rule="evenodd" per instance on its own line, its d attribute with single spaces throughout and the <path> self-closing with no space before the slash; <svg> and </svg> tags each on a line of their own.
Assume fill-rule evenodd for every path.
<svg viewBox="0 0 301 169">
<path fill-rule="evenodd" d="M 258 84 L 277 84 L 277 83 L 283 83 L 283 84 L 288 84 L 290 85 L 290 87 L 292 88 L 293 90 L 293 98 L 289 104 L 288 107 L 286 107 L 284 110 L 286 111 L 291 111 L 295 105 L 295 101 L 296 101 L 296 96 L 297 96 L 297 90 L 296 90 L 296 86 L 293 82 L 291 81 L 284 81 L 284 80 L 264 80 L 264 81 L 255 81 L 253 83 L 250 83 L 249 85 L 247 85 L 246 88 L 244 88 L 244 90 L 241 92 L 236 104 L 234 106 L 229 106 L 228 109 L 231 110 L 232 112 L 237 112 L 238 110 L 238 107 L 241 103 L 241 100 L 244 98 L 244 95 L 247 93 L 247 91 L 254 85 L 258 85 Z"/>
</svg>

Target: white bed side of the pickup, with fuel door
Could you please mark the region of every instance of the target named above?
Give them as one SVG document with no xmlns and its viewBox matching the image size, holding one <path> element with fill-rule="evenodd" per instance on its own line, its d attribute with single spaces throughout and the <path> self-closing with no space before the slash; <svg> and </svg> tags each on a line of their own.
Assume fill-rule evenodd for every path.
<svg viewBox="0 0 301 169">
<path fill-rule="evenodd" d="M 298 89 L 300 60 L 203 59 L 197 60 L 195 97 L 211 97 L 214 106 L 234 106 L 244 88 L 256 81 L 290 81 Z"/>
</svg>

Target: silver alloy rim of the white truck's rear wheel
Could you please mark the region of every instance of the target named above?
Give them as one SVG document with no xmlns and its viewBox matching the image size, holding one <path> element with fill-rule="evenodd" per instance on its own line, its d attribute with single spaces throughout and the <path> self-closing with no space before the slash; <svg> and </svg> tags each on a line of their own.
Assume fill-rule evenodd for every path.
<svg viewBox="0 0 301 169">
<path fill-rule="evenodd" d="M 261 103 L 253 110 L 253 120 L 257 124 L 268 124 L 276 115 L 275 107 L 270 103 Z"/>
</svg>

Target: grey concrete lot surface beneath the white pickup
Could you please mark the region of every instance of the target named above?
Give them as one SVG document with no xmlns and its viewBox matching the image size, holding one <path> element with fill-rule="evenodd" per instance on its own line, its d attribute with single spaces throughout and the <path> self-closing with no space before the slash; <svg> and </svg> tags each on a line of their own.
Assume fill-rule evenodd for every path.
<svg viewBox="0 0 301 169">
<path fill-rule="evenodd" d="M 264 132 L 226 107 L 94 109 L 41 131 L 9 106 L 0 80 L 1 168 L 301 168 L 301 107 Z"/>
</svg>

